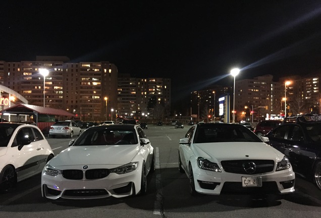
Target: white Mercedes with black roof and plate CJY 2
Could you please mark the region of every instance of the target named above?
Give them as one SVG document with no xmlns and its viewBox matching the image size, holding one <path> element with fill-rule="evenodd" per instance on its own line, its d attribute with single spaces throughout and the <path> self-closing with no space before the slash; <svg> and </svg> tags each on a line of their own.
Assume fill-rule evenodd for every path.
<svg viewBox="0 0 321 218">
<path fill-rule="evenodd" d="M 178 162 L 192 195 L 294 192 L 295 174 L 287 157 L 240 124 L 192 126 L 180 139 Z"/>
</svg>

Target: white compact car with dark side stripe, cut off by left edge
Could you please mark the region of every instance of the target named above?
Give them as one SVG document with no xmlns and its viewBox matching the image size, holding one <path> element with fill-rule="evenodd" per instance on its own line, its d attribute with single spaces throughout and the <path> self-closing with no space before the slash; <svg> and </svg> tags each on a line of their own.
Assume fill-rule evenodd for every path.
<svg viewBox="0 0 321 218">
<path fill-rule="evenodd" d="M 39 174 L 53 157 L 38 127 L 0 123 L 0 191 L 8 192 L 17 182 Z"/>
</svg>

